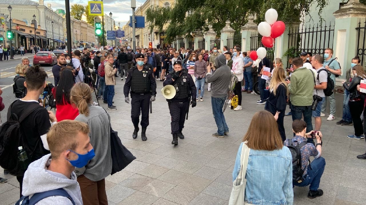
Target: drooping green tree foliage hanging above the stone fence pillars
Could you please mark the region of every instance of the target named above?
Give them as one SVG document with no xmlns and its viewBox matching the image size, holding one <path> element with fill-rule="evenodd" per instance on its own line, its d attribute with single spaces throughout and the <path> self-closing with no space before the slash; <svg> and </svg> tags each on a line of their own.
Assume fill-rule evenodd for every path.
<svg viewBox="0 0 366 205">
<path fill-rule="evenodd" d="M 366 0 L 364 0 L 366 1 Z M 173 8 L 164 8 L 153 5 L 146 11 L 146 21 L 150 23 L 150 31 L 166 28 L 165 42 L 172 42 L 176 36 L 185 36 L 192 31 L 208 30 L 212 25 L 213 30 L 220 34 L 225 26 L 225 21 L 230 20 L 230 26 L 239 31 L 247 23 L 249 14 L 257 16 L 257 23 L 264 20 L 267 9 L 277 10 L 279 20 L 284 22 L 299 21 L 300 11 L 309 14 L 310 6 L 315 5 L 320 14 L 329 3 L 328 0 L 176 0 Z"/>
</svg>

